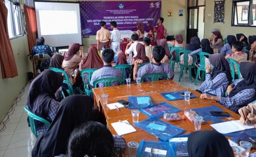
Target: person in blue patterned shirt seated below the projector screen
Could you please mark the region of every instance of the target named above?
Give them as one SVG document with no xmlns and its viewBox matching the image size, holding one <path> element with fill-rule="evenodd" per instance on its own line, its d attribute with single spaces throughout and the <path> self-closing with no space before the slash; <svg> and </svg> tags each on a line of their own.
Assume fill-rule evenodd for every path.
<svg viewBox="0 0 256 157">
<path fill-rule="evenodd" d="M 52 50 L 50 49 L 49 45 L 44 44 L 43 37 L 37 38 L 35 42 L 37 45 L 32 48 L 32 55 L 47 54 L 50 57 L 52 57 L 53 55 Z M 50 59 L 44 60 L 42 62 L 42 67 L 48 68 L 50 61 L 51 61 Z M 43 71 L 43 69 L 41 71 Z"/>
</svg>

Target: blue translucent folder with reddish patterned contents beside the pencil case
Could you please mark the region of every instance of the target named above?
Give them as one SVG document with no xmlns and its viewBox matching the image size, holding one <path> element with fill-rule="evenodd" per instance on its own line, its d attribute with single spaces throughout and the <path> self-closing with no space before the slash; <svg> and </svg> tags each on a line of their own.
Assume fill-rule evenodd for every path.
<svg viewBox="0 0 256 157">
<path fill-rule="evenodd" d="M 150 107 L 140 108 L 139 110 L 147 116 L 154 116 L 157 118 L 163 117 L 164 113 L 177 113 L 181 111 L 179 108 L 175 108 L 167 102 L 161 102 Z"/>
</svg>

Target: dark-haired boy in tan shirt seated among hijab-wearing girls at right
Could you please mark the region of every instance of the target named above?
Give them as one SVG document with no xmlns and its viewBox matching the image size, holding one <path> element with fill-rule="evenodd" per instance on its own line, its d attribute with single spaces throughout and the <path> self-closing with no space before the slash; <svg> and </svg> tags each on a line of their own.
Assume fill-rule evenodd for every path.
<svg viewBox="0 0 256 157">
<path fill-rule="evenodd" d="M 243 61 L 247 61 L 247 54 L 244 52 L 241 52 L 243 49 L 243 43 L 241 41 L 235 41 L 232 44 L 232 53 L 225 56 L 225 58 L 231 58 L 236 63 L 240 64 Z M 235 73 L 238 74 L 237 67 L 235 66 Z"/>
</svg>

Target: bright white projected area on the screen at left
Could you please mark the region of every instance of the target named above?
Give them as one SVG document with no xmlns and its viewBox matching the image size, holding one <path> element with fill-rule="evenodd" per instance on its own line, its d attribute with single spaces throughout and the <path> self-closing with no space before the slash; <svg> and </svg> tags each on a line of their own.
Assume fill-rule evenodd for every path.
<svg viewBox="0 0 256 157">
<path fill-rule="evenodd" d="M 77 34 L 76 11 L 39 10 L 41 35 Z"/>
</svg>

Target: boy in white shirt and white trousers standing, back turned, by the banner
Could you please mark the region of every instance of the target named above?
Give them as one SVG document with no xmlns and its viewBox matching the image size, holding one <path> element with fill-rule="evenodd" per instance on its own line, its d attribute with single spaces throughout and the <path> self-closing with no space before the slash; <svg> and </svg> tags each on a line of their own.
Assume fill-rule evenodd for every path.
<svg viewBox="0 0 256 157">
<path fill-rule="evenodd" d="M 116 28 L 116 21 L 112 21 L 110 25 L 111 29 L 113 29 L 111 32 L 111 49 L 113 49 L 115 55 L 117 55 L 117 52 L 120 51 L 121 32 Z"/>
</svg>

